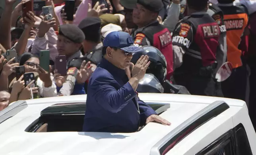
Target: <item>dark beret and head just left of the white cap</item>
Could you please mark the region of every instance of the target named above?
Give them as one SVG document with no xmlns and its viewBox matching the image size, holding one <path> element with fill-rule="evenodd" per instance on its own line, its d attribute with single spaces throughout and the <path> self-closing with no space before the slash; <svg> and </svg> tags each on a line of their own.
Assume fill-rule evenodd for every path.
<svg viewBox="0 0 256 155">
<path fill-rule="evenodd" d="M 99 41 L 101 34 L 101 19 L 99 17 L 87 17 L 79 23 L 78 27 L 83 31 L 85 40 Z"/>
</svg>

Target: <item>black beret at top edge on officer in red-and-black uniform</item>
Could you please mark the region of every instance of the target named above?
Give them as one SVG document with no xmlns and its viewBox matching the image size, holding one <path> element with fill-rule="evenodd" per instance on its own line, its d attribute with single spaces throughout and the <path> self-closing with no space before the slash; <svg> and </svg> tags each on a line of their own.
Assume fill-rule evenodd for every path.
<svg viewBox="0 0 256 155">
<path fill-rule="evenodd" d="M 162 0 L 138 0 L 137 3 L 153 12 L 159 12 L 164 7 Z"/>
</svg>

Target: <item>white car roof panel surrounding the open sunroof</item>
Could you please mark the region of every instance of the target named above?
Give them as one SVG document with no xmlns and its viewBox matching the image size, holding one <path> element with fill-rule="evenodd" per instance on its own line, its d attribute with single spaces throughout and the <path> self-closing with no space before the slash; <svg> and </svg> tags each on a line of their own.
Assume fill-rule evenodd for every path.
<svg viewBox="0 0 256 155">
<path fill-rule="evenodd" d="M 134 133 L 25 132 L 48 106 L 85 102 L 86 95 L 26 100 L 24 110 L 0 124 L 0 155 L 155 155 L 152 148 L 157 143 L 209 104 L 221 100 L 229 106 L 246 107 L 242 100 L 208 96 L 141 93 L 139 97 L 144 102 L 170 104 L 161 117 L 172 125 L 149 123 Z"/>
</svg>

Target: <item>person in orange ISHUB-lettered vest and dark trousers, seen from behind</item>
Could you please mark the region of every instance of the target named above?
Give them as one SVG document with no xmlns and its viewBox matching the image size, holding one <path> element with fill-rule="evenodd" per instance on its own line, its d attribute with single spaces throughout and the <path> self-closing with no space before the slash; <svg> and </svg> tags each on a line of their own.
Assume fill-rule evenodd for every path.
<svg viewBox="0 0 256 155">
<path fill-rule="evenodd" d="M 218 0 L 218 6 L 224 13 L 224 23 L 227 29 L 227 61 L 232 63 L 231 76 L 221 83 L 223 95 L 227 98 L 246 100 L 247 70 L 241 59 L 239 49 L 241 36 L 248 24 L 247 8 L 233 4 L 233 0 Z"/>
</svg>

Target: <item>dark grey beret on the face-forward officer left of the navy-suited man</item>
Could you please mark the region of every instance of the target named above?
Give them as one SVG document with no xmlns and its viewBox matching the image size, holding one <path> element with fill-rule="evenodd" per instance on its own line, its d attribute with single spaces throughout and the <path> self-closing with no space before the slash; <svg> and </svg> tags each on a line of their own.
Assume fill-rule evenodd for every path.
<svg viewBox="0 0 256 155">
<path fill-rule="evenodd" d="M 72 24 L 60 25 L 58 34 L 68 38 L 74 43 L 82 43 L 85 39 L 83 31 L 78 28 L 78 26 Z"/>
</svg>

